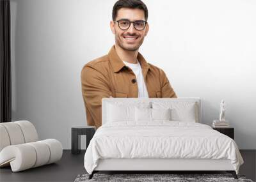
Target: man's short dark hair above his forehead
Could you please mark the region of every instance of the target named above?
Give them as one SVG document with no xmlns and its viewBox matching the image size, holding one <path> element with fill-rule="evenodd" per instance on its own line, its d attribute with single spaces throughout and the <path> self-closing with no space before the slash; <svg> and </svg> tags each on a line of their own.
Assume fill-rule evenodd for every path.
<svg viewBox="0 0 256 182">
<path fill-rule="evenodd" d="M 112 19 L 116 20 L 117 11 L 121 8 L 140 9 L 144 11 L 145 20 L 148 20 L 148 8 L 141 0 L 119 0 L 113 6 Z"/>
</svg>

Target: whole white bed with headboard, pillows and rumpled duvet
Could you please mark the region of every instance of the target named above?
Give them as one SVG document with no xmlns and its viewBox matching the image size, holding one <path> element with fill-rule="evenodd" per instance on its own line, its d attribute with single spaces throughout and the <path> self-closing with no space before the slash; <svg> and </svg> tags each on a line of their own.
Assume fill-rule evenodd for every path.
<svg viewBox="0 0 256 182">
<path fill-rule="evenodd" d="M 100 126 L 84 155 L 99 171 L 227 171 L 237 179 L 236 142 L 202 124 L 200 98 L 103 98 Z"/>
</svg>

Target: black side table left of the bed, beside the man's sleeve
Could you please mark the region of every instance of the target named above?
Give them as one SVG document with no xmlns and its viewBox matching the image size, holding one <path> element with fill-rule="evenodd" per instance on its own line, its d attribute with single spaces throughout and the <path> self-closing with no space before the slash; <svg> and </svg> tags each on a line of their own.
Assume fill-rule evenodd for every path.
<svg viewBox="0 0 256 182">
<path fill-rule="evenodd" d="M 81 135 L 86 135 L 86 149 L 95 133 L 95 126 L 72 126 L 71 128 L 71 153 L 81 153 Z"/>
</svg>

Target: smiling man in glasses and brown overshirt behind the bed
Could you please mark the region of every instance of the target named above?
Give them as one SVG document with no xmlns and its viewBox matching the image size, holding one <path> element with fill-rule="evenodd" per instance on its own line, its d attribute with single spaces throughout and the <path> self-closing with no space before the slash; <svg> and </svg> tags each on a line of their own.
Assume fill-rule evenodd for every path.
<svg viewBox="0 0 256 182">
<path fill-rule="evenodd" d="M 85 64 L 81 72 L 87 124 L 96 128 L 101 126 L 102 98 L 138 98 L 139 93 L 148 98 L 177 98 L 164 71 L 138 52 L 148 33 L 147 6 L 140 0 L 119 0 L 112 18 L 115 45 L 105 56 Z M 138 72 L 133 65 L 138 65 Z"/>
</svg>

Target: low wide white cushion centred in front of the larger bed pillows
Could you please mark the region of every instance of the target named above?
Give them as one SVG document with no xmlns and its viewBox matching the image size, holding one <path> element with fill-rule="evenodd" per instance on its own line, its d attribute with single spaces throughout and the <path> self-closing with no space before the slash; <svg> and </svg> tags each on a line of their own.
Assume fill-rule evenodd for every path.
<svg viewBox="0 0 256 182">
<path fill-rule="evenodd" d="M 135 121 L 170 120 L 171 113 L 168 109 L 148 109 L 135 107 Z"/>
</svg>

